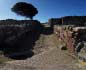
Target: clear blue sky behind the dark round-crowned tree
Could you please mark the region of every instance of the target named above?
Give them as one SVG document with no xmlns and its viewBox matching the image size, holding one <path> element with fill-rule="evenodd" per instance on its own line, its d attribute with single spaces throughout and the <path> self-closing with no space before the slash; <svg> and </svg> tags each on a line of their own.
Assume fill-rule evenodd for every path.
<svg viewBox="0 0 86 70">
<path fill-rule="evenodd" d="M 11 11 L 17 2 L 34 5 L 38 9 L 38 14 L 34 19 L 40 22 L 47 22 L 50 18 L 63 16 L 86 16 L 86 0 L 0 0 L 0 20 L 25 19 Z"/>
</svg>

